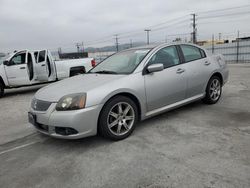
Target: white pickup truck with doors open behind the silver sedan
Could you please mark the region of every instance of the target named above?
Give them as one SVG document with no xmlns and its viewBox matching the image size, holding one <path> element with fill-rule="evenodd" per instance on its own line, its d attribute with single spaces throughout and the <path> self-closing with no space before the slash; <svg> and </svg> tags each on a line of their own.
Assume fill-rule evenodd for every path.
<svg viewBox="0 0 250 188">
<path fill-rule="evenodd" d="M 49 50 L 22 50 L 0 59 L 0 97 L 5 89 L 54 82 L 89 71 L 93 58 L 54 61 Z"/>
</svg>

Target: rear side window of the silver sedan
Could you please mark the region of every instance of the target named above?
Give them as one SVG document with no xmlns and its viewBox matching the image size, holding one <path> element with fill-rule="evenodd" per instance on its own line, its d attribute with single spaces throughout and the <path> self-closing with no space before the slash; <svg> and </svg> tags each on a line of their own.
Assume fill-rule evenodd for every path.
<svg viewBox="0 0 250 188">
<path fill-rule="evenodd" d="M 186 62 L 202 58 L 200 49 L 195 46 L 181 45 L 181 49 Z"/>
</svg>

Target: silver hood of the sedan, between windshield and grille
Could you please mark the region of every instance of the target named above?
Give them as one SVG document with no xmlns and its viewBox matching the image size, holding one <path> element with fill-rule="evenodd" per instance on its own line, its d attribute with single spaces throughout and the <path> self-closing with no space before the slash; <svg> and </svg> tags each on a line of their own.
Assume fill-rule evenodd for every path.
<svg viewBox="0 0 250 188">
<path fill-rule="evenodd" d="M 58 102 L 65 95 L 85 93 L 124 76 L 114 74 L 83 74 L 74 76 L 38 90 L 35 98 L 43 101 Z"/>
</svg>

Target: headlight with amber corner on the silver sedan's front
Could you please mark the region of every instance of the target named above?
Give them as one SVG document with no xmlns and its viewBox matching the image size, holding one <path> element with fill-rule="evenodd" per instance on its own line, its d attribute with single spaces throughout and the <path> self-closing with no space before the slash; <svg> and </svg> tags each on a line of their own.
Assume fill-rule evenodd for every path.
<svg viewBox="0 0 250 188">
<path fill-rule="evenodd" d="M 62 97 L 56 105 L 57 111 L 79 110 L 85 108 L 86 93 L 71 94 Z"/>
</svg>

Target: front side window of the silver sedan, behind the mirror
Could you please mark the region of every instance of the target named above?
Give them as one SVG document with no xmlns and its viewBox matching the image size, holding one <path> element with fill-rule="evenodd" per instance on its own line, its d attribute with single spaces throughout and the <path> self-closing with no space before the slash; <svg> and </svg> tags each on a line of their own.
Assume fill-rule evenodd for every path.
<svg viewBox="0 0 250 188">
<path fill-rule="evenodd" d="M 163 64 L 164 68 L 180 64 L 175 46 L 169 46 L 156 52 L 150 59 L 149 64 Z"/>
</svg>

